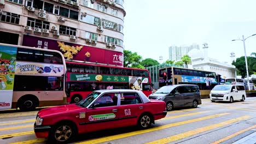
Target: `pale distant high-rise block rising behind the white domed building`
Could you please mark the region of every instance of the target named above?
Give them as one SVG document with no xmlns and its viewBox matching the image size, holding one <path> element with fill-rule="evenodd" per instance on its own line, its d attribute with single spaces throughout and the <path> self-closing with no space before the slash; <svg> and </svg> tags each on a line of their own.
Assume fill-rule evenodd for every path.
<svg viewBox="0 0 256 144">
<path fill-rule="evenodd" d="M 192 49 L 199 50 L 199 45 L 193 44 L 190 46 L 170 46 L 169 47 L 169 60 L 170 61 L 179 61 L 184 55 L 187 55 L 188 52 Z"/>
</svg>

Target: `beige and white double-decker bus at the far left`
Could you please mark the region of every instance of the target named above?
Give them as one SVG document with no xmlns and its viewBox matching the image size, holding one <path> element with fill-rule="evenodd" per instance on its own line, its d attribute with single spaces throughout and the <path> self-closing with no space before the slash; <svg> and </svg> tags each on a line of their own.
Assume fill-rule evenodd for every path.
<svg viewBox="0 0 256 144">
<path fill-rule="evenodd" d="M 61 52 L 0 44 L 0 110 L 67 103 Z"/>
</svg>

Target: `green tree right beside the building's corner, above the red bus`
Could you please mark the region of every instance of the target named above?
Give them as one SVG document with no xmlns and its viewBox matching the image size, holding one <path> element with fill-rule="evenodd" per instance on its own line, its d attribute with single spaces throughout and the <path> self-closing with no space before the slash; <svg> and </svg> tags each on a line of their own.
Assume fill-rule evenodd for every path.
<svg viewBox="0 0 256 144">
<path fill-rule="evenodd" d="M 141 67 L 139 64 L 141 60 L 142 60 L 142 56 L 139 56 L 137 52 L 124 50 L 124 67 L 132 67 L 132 68 Z"/>
</svg>

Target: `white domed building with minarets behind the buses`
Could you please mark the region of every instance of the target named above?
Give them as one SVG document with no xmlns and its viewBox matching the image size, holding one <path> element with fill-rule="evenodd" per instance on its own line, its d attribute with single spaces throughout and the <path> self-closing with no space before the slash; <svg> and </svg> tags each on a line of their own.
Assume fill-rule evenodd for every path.
<svg viewBox="0 0 256 144">
<path fill-rule="evenodd" d="M 222 75 L 223 79 L 236 77 L 236 67 L 228 62 L 219 62 L 217 59 L 208 57 L 208 44 L 203 44 L 203 51 L 199 49 L 193 49 L 188 52 L 191 57 L 192 65 L 194 69 L 214 71 L 219 75 Z M 234 59 L 235 53 L 232 53 L 231 61 Z"/>
</svg>

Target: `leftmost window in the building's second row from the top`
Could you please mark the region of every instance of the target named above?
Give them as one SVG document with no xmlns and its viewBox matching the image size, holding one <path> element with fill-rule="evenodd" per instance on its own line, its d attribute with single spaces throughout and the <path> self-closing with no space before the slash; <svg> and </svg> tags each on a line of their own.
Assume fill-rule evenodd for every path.
<svg viewBox="0 0 256 144">
<path fill-rule="evenodd" d="M 1 17 L 1 21 L 4 21 L 4 22 L 10 22 L 15 24 L 20 23 L 20 15 L 18 14 L 2 11 L 2 15 L 0 15 L 0 17 Z"/>
</svg>

